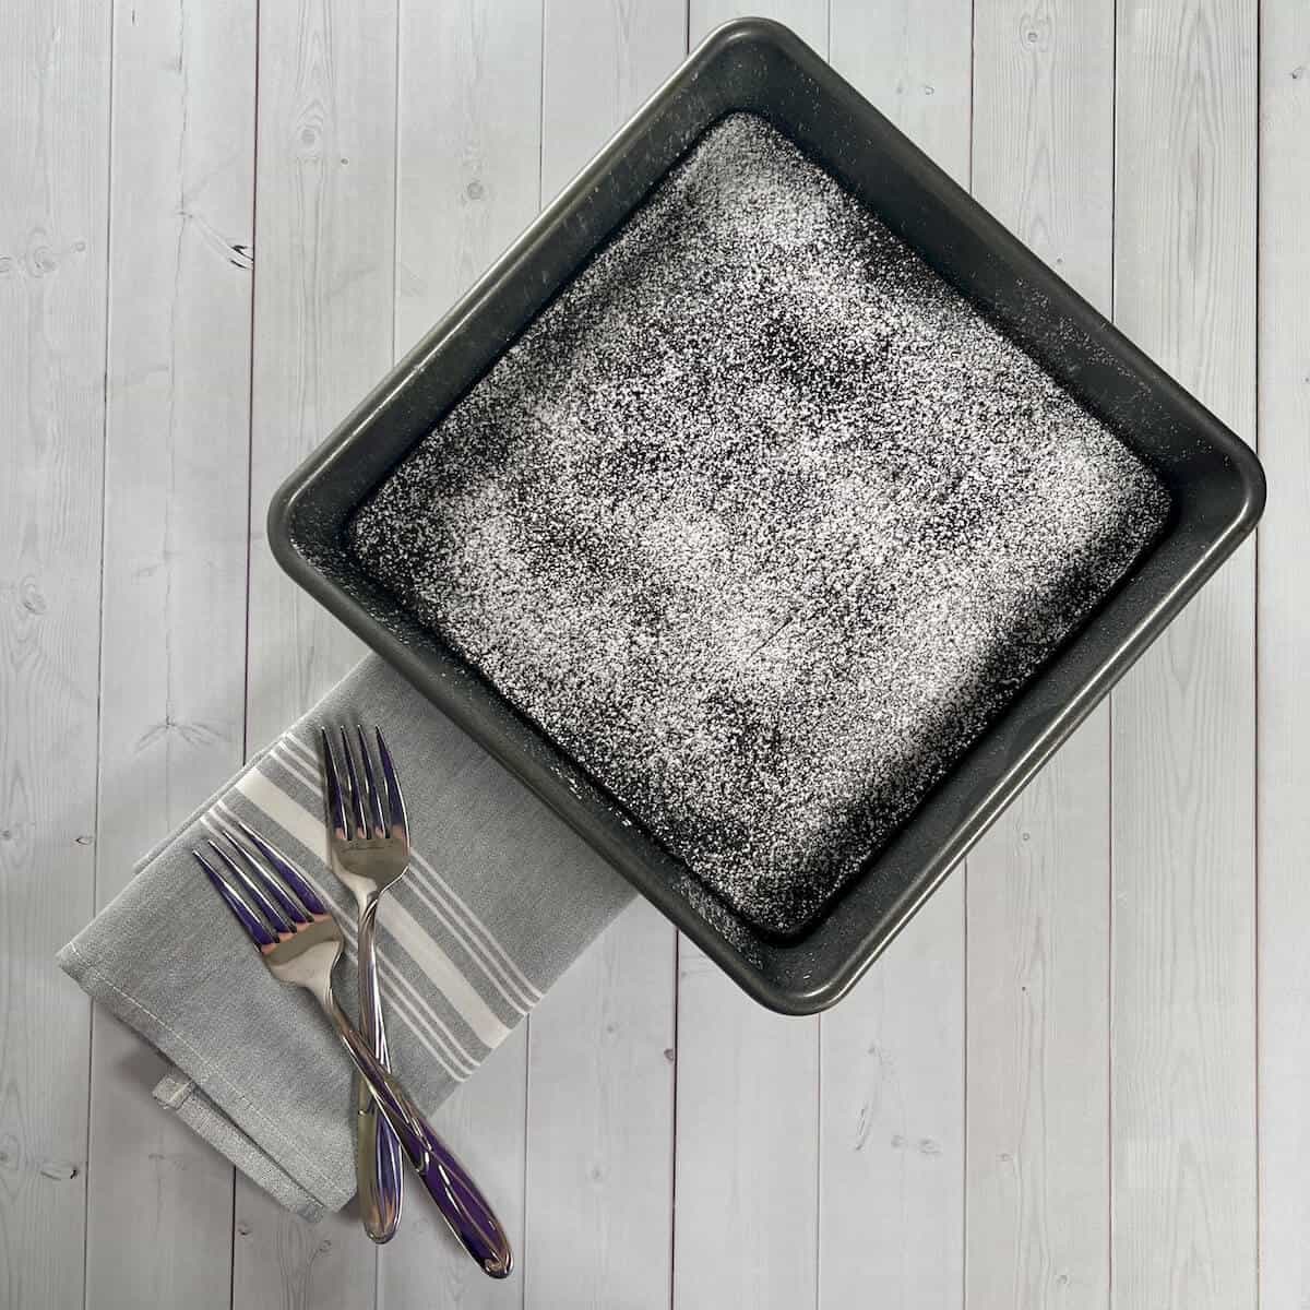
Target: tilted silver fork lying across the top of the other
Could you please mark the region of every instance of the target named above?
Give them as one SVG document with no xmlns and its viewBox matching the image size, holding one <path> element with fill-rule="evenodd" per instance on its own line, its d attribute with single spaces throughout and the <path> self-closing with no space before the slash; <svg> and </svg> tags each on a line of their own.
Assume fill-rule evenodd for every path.
<svg viewBox="0 0 1310 1310">
<path fill-rule="evenodd" d="M 223 844 L 210 838 L 212 861 L 199 849 L 191 854 L 254 942 L 269 972 L 279 982 L 304 988 L 322 1006 L 451 1231 L 485 1273 L 507 1277 L 514 1254 L 491 1207 L 400 1081 L 379 1062 L 333 993 L 331 975 L 345 945 L 341 925 L 304 874 L 272 842 L 249 824 L 237 823 L 244 840 L 216 824 Z"/>
</svg>

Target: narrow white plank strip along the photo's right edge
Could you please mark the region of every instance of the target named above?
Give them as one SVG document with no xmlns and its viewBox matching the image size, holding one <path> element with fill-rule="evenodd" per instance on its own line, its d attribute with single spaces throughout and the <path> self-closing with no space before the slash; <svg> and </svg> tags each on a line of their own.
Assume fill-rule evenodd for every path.
<svg viewBox="0 0 1310 1310">
<path fill-rule="evenodd" d="M 1310 1305 L 1310 7 L 1260 9 L 1260 1305 Z"/>
</svg>

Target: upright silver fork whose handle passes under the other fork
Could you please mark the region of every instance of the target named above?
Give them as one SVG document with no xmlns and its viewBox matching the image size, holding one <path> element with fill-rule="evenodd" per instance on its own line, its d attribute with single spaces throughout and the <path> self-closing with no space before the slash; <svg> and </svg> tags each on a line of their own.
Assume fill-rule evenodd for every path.
<svg viewBox="0 0 1310 1310">
<path fill-rule="evenodd" d="M 405 876 L 409 869 L 409 823 L 405 817 L 405 798 L 392 753 L 386 749 L 383 730 L 377 734 L 377 758 L 381 765 L 383 787 L 386 794 L 385 815 L 383 795 L 373 773 L 373 761 L 359 734 L 362 769 L 355 768 L 355 752 L 350 747 L 346 730 L 341 730 L 341 749 L 345 758 L 350 803 L 342 795 L 337 761 L 326 728 L 320 728 L 324 752 L 324 778 L 330 817 L 333 867 L 337 876 L 355 896 L 359 912 L 359 1027 L 377 1056 L 379 1062 L 390 1069 L 386 1052 L 386 1027 L 383 1022 L 381 989 L 377 985 L 377 903 L 392 883 Z M 363 776 L 363 786 L 360 786 Z M 401 1146 L 390 1125 L 377 1111 L 377 1102 L 360 1078 L 358 1091 L 358 1136 L 355 1138 L 355 1176 L 359 1182 L 359 1209 L 364 1231 L 375 1242 L 389 1242 L 401 1222 L 403 1197 L 403 1171 Z"/>
</svg>

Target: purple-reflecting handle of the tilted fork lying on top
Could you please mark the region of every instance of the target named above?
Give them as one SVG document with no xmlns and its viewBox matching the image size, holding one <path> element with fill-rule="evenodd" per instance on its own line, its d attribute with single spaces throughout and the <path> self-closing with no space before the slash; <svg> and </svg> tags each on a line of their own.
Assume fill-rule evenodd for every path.
<svg viewBox="0 0 1310 1310">
<path fill-rule="evenodd" d="M 400 1081 L 379 1064 L 337 998 L 328 992 L 320 1002 L 451 1231 L 483 1273 L 493 1279 L 507 1277 L 514 1265 L 510 1239 L 477 1184 L 436 1136 Z"/>
</svg>

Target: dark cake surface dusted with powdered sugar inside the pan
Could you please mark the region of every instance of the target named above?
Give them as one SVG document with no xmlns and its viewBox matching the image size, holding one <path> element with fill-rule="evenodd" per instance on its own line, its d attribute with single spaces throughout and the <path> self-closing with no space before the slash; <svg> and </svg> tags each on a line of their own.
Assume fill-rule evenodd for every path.
<svg viewBox="0 0 1310 1310">
<path fill-rule="evenodd" d="M 1167 506 L 858 202 L 734 114 L 351 540 L 702 882 L 787 931 Z"/>
</svg>

